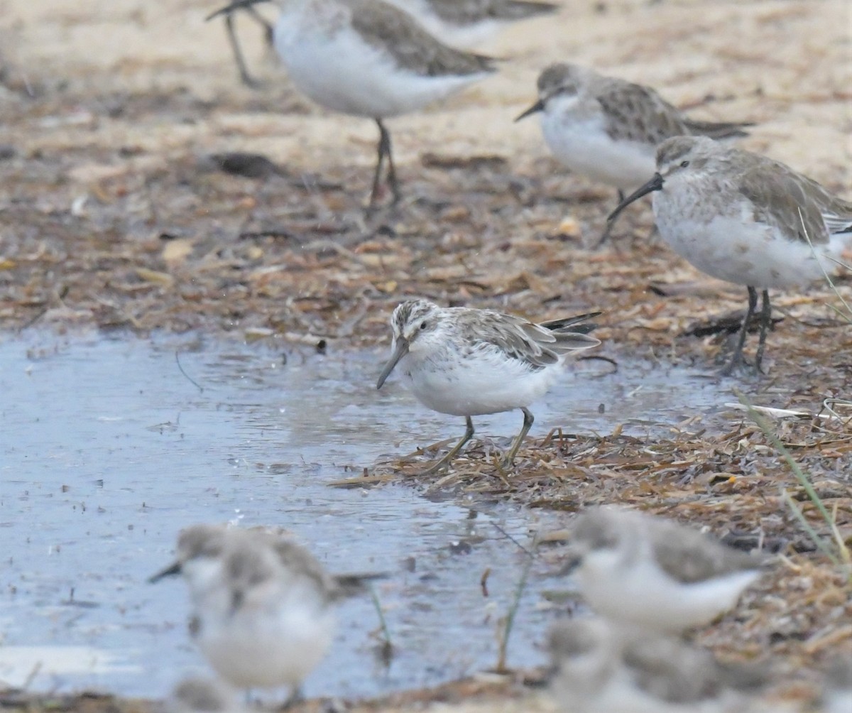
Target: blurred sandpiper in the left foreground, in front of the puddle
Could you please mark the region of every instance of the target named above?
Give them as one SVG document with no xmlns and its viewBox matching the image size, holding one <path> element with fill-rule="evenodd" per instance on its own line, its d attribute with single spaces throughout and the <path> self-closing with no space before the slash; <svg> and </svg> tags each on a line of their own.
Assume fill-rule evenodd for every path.
<svg viewBox="0 0 852 713">
<path fill-rule="evenodd" d="M 216 673 L 239 688 L 290 687 L 291 699 L 331 646 L 335 602 L 359 578 L 329 574 L 278 533 L 210 525 L 181 532 L 177 561 L 150 581 L 176 574 L 193 605 L 190 633 Z"/>
</svg>

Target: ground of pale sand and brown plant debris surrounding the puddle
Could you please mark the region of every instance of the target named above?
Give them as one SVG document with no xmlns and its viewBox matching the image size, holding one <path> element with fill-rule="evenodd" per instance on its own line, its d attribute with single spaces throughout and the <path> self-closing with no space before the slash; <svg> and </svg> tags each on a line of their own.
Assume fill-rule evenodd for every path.
<svg viewBox="0 0 852 713">
<path fill-rule="evenodd" d="M 260 91 L 239 84 L 222 26 L 204 24 L 215 3 L 0 0 L 0 327 L 202 329 L 374 347 L 388 339 L 394 303 L 425 295 L 537 319 L 602 308 L 610 356 L 711 365 L 724 342 L 718 331 L 686 332 L 741 310 L 743 290 L 702 278 L 644 239 L 647 210 L 629 216 L 613 244 L 588 249 L 613 192 L 566 175 L 537 123 L 511 119 L 534 100 L 543 66 L 583 62 L 653 85 L 696 118 L 755 122 L 745 147 L 852 198 L 852 5 L 564 4 L 558 20 L 515 26 L 481 48 L 506 58 L 497 76 L 389 123 L 406 199 L 366 218 L 375 127 L 296 95 L 250 21 L 239 30 Z M 261 180 L 226 175 L 209 158 L 226 152 L 260 153 L 279 170 Z M 849 299 L 849 276 L 838 290 Z M 849 397 L 852 338 L 827 307 L 837 296 L 815 285 L 774 304 L 785 319 L 769 336 L 770 377 L 746 381 L 746 393 L 809 413 L 826 398 Z M 821 428 L 805 420 L 782 436 L 834 498 L 848 537 L 852 436 L 846 423 Z M 491 492 L 560 507 L 566 474 L 580 473 L 584 490 L 572 502 L 596 502 L 624 485 L 607 480 L 614 474 L 634 488 L 619 490 L 628 502 L 720 534 L 735 513 L 749 532 L 801 540 L 775 496 L 778 483 L 795 484 L 759 429 L 699 430 L 655 444 L 669 460 L 653 480 L 637 480 L 630 465 L 647 453 L 644 444 L 610 436 L 560 441 L 556 454 L 546 443 L 531 448 L 525 469 L 533 475 L 518 481 L 524 492 L 518 484 Z M 607 474 L 593 458 L 583 461 L 589 452 Z M 686 461 L 711 463 L 736 484 L 700 480 L 704 490 L 686 497 L 672 465 Z M 758 501 L 763 510 L 749 515 L 746 505 Z M 805 549 L 794 547 L 772 580 L 702 641 L 749 655 L 771 647 L 791 671 L 852 651 L 849 587 Z M 803 594 L 814 583 L 832 594 Z M 440 702 L 423 703 L 429 698 Z M 112 699 L 27 704 L 150 710 Z M 551 710 L 518 684 L 479 683 L 356 710 L 412 708 Z"/>
</svg>

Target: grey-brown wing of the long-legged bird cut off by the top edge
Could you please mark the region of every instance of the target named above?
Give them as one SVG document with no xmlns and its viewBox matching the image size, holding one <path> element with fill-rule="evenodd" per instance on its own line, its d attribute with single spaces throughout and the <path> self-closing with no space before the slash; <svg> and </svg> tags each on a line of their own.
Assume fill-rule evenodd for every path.
<svg viewBox="0 0 852 713">
<path fill-rule="evenodd" d="M 400 66 L 426 77 L 465 76 L 494 71 L 494 60 L 440 43 L 411 15 L 386 3 L 353 0 L 352 26 L 366 42 Z"/>
</svg>

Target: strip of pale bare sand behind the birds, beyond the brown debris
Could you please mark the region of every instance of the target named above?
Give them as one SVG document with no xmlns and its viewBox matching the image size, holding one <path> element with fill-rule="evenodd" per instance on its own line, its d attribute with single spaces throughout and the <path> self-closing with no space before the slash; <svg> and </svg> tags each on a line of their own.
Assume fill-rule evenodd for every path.
<svg viewBox="0 0 852 713">
<path fill-rule="evenodd" d="M 760 129 L 746 147 L 768 152 L 829 186 L 849 187 L 848 3 L 565 5 L 559 20 L 528 21 L 481 48 L 507 58 L 495 78 L 429 112 L 395 120 L 400 163 L 415 163 L 421 152 L 439 147 L 495 153 L 519 168 L 545 155 L 535 122 L 515 125 L 509 119 L 533 100 L 544 65 L 573 60 L 647 83 L 677 106 L 701 106 L 695 112 L 699 118 L 757 122 Z M 240 25 L 246 51 L 268 87 L 260 93 L 241 88 L 222 26 L 204 23 L 211 7 L 216 3 L 93 0 L 70 6 L 61 0 L 4 0 L 0 49 L 12 92 L 29 82 L 46 93 L 81 99 L 178 92 L 210 102 L 183 126 L 129 112 L 97 117 L 93 131 L 78 116 L 83 124 L 78 131 L 67 125 L 70 121 L 56 122 L 57 127 L 42 122 L 37 131 L 32 125 L 20 133 L 13 129 L 5 141 L 25 155 L 69 142 L 78 148 L 123 142 L 166 156 L 193 148 L 254 150 L 300 170 L 320 171 L 343 163 L 343 156 L 346 163 L 371 165 L 371 152 L 365 150 L 374 141 L 371 123 L 325 114 L 292 95 L 250 20 Z M 310 113 L 310 121 L 304 113 Z"/>
</svg>

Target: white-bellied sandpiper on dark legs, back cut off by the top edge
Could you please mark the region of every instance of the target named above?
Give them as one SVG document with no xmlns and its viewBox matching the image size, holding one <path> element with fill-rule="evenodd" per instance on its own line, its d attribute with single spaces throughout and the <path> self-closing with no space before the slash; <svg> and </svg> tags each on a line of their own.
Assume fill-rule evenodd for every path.
<svg viewBox="0 0 852 713">
<path fill-rule="evenodd" d="M 269 1 L 237 0 L 210 18 Z M 415 112 L 486 78 L 494 71 L 492 60 L 440 43 L 412 15 L 382 0 L 278 3 L 274 43 L 290 78 L 320 106 L 376 122 L 370 204 L 380 196 L 385 159 L 396 202 L 400 187 L 384 119 Z"/>
</svg>

